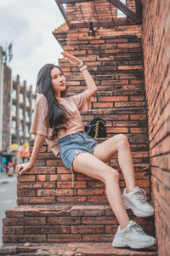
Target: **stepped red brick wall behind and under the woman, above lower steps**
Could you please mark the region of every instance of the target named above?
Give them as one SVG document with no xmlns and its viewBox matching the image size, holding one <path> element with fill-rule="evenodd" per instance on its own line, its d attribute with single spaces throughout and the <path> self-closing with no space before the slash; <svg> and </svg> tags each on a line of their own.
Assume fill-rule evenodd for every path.
<svg viewBox="0 0 170 256">
<path fill-rule="evenodd" d="M 71 33 L 71 54 L 86 61 L 94 76 L 98 91 L 92 99 L 92 110 L 83 113 L 83 123 L 94 116 L 106 120 L 108 137 L 118 133 L 127 135 L 131 144 L 137 185 L 150 195 L 148 165 L 148 139 L 146 108 L 144 101 L 144 74 L 140 38 L 134 36 L 88 37 L 77 40 L 79 33 Z M 58 33 L 60 38 L 62 34 Z M 74 38 L 75 37 L 75 38 Z M 59 61 L 67 80 L 68 93 L 77 94 L 86 85 L 77 67 L 65 59 Z M 105 139 L 99 139 L 99 143 Z M 31 143 L 32 144 L 32 143 Z M 119 172 L 115 156 L 110 163 Z M 43 167 L 42 167 L 43 166 Z M 71 172 L 63 167 L 60 159 L 44 145 L 38 155 L 35 168 L 21 176 L 18 183 L 18 204 L 108 204 L 105 184 L 93 178 L 75 173 L 75 189 L 71 189 Z M 125 183 L 121 172 L 121 189 Z"/>
</svg>

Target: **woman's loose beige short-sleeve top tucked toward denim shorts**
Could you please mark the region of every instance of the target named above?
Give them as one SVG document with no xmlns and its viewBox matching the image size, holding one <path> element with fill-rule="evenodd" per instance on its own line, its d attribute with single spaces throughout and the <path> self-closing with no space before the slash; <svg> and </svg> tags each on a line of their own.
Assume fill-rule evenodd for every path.
<svg viewBox="0 0 170 256">
<path fill-rule="evenodd" d="M 59 98 L 59 103 L 64 105 L 73 114 L 73 118 L 68 121 L 66 131 L 60 130 L 58 137 L 54 140 L 49 138 L 52 134 L 52 128 L 48 127 L 45 123 L 45 117 L 48 114 L 48 102 L 43 94 L 37 96 L 30 130 L 32 134 L 41 134 L 46 137 L 45 140 L 55 156 L 59 153 L 59 138 L 78 131 L 84 131 L 80 112 L 83 113 L 91 109 L 91 102 L 87 100 L 86 91 L 74 96 Z"/>
</svg>

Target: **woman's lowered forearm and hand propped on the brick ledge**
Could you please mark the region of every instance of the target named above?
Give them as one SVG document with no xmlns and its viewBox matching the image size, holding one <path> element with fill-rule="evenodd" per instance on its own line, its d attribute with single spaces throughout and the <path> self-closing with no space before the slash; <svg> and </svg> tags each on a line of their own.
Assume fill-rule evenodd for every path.
<svg viewBox="0 0 170 256">
<path fill-rule="evenodd" d="M 26 164 L 20 164 L 16 166 L 15 172 L 17 172 L 19 175 L 23 174 L 26 171 L 31 170 L 31 168 L 35 165 L 35 162 L 37 160 L 37 156 L 39 154 L 40 148 L 42 148 L 42 144 L 45 140 L 45 136 L 42 136 L 40 134 L 37 134 L 34 141 L 34 146 L 32 149 L 31 159 Z"/>
</svg>

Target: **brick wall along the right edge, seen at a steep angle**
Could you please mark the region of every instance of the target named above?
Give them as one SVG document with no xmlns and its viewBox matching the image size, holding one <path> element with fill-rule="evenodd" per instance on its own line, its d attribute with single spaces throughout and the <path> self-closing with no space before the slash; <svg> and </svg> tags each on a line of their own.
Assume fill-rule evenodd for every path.
<svg viewBox="0 0 170 256">
<path fill-rule="evenodd" d="M 170 248 L 170 1 L 144 0 L 143 48 L 159 255 Z"/>
</svg>

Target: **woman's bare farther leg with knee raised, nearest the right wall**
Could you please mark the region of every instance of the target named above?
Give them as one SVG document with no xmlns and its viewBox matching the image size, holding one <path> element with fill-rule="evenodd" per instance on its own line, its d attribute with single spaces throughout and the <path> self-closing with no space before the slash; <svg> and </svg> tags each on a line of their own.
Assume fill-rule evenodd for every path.
<svg viewBox="0 0 170 256">
<path fill-rule="evenodd" d="M 130 152 L 130 146 L 127 137 L 123 134 L 119 134 L 107 139 L 104 143 L 100 143 L 94 149 L 94 156 L 99 160 L 107 162 L 111 160 L 116 152 L 118 152 L 119 166 L 121 167 L 128 193 L 136 187 L 136 184 L 134 177 L 133 158 Z"/>
</svg>

